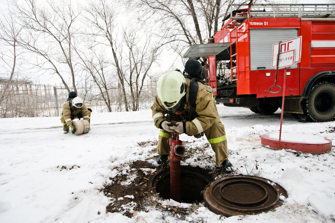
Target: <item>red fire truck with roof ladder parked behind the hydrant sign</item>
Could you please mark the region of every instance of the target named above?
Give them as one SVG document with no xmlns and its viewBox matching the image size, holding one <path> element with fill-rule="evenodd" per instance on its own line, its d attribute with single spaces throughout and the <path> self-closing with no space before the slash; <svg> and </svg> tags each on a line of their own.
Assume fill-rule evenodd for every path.
<svg viewBox="0 0 335 223">
<path fill-rule="evenodd" d="M 192 45 L 184 55 L 206 60 L 206 80 L 216 101 L 259 114 L 282 108 L 284 69 L 272 67 L 273 45 L 301 36 L 299 62 L 285 69 L 284 112 L 316 122 L 333 120 L 335 4 L 229 7 L 209 43 Z M 270 89 L 274 85 L 279 87 Z"/>
</svg>

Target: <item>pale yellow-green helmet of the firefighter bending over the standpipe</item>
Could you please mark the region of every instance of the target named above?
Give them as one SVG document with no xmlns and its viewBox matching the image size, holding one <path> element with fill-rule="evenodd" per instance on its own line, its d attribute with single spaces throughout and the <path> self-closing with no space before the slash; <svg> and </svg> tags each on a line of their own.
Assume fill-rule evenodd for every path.
<svg viewBox="0 0 335 223">
<path fill-rule="evenodd" d="M 186 80 L 179 71 L 172 71 L 159 77 L 157 95 L 167 110 L 178 110 L 184 107 Z"/>
</svg>

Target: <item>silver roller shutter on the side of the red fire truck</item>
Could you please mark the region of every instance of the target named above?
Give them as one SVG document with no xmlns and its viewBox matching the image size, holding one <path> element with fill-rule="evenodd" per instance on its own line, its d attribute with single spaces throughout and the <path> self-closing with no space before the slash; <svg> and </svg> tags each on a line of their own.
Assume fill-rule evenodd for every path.
<svg viewBox="0 0 335 223">
<path fill-rule="evenodd" d="M 272 45 L 298 36 L 296 28 L 250 29 L 250 65 L 251 70 L 272 70 Z M 297 65 L 290 68 L 297 68 Z"/>
</svg>

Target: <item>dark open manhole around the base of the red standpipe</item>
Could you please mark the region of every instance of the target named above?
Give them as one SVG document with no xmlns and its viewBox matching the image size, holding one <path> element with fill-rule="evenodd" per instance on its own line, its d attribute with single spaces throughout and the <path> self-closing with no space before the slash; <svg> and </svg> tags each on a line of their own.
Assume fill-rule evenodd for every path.
<svg viewBox="0 0 335 223">
<path fill-rule="evenodd" d="M 181 202 L 202 202 L 202 191 L 213 177 L 198 167 L 180 167 Z M 152 179 L 152 188 L 164 199 L 170 199 L 170 168 L 159 171 Z"/>
</svg>

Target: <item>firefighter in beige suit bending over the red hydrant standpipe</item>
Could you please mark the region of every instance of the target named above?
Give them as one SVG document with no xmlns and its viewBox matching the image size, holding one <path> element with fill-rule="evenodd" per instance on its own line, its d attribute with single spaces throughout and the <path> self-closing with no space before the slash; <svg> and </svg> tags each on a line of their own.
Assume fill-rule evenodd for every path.
<svg viewBox="0 0 335 223">
<path fill-rule="evenodd" d="M 215 152 L 216 165 L 230 173 L 232 164 L 228 161 L 224 126 L 218 115 L 212 89 L 199 83 L 194 108 L 189 101 L 190 82 L 191 80 L 185 79 L 179 71 L 166 73 L 157 82 L 157 95 L 151 106 L 154 124 L 161 129 L 157 145 L 159 156 L 156 162 L 161 164 L 170 154 L 170 146 L 166 141 L 171 132 L 186 133 L 197 138 L 204 133 Z M 168 119 L 177 121 L 177 126 L 167 125 L 169 121 L 165 118 L 166 114 Z"/>
</svg>

